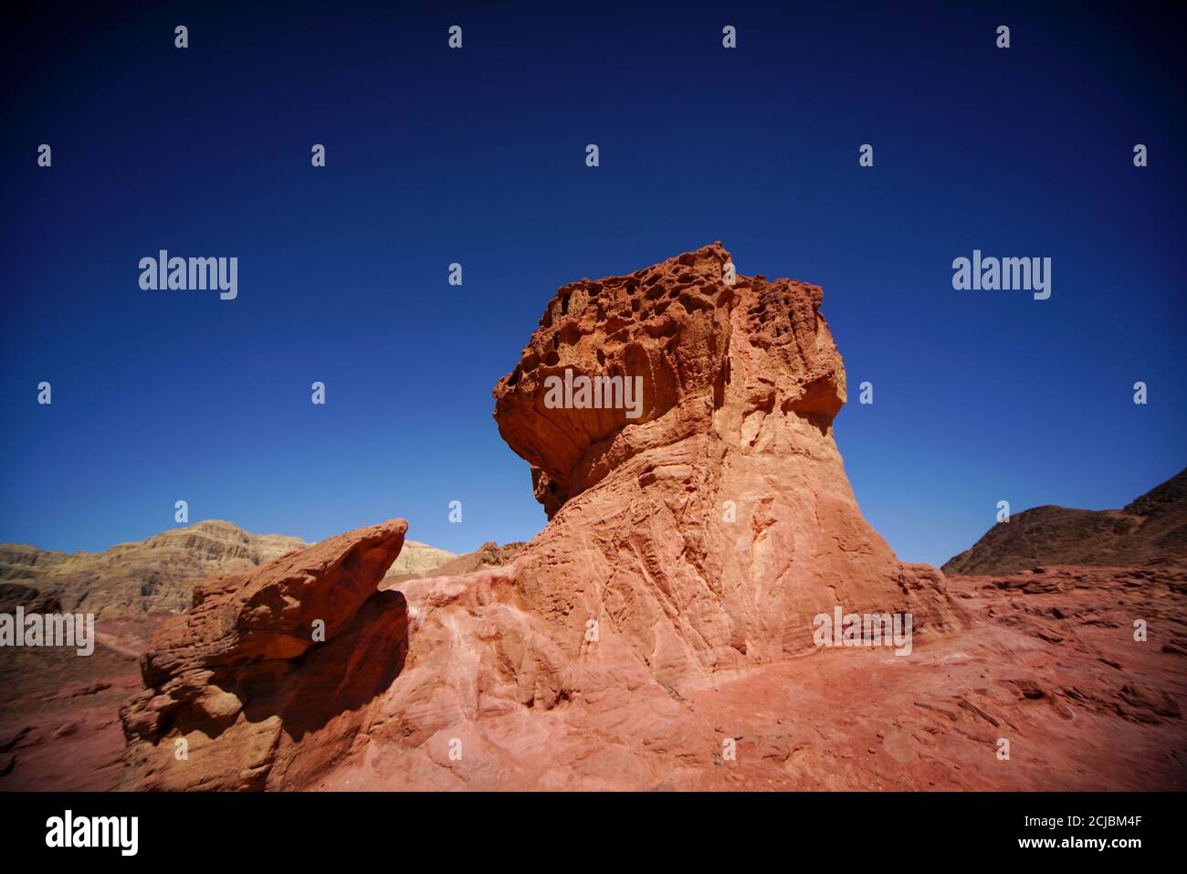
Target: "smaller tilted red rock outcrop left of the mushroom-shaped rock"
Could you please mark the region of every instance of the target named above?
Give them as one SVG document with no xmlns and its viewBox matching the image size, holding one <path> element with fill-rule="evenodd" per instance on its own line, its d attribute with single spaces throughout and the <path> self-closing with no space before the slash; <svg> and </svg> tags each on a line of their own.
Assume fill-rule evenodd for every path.
<svg viewBox="0 0 1187 874">
<path fill-rule="evenodd" d="M 407 527 L 360 528 L 199 584 L 190 612 L 153 634 L 146 689 L 121 710 L 125 785 L 284 787 L 348 753 L 362 705 L 407 651 L 404 596 L 376 591 Z"/>
</svg>

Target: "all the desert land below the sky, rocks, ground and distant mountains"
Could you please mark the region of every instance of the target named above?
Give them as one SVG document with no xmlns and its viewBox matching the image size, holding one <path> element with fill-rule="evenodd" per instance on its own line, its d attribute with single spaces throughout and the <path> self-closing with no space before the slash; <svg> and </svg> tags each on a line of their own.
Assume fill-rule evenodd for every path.
<svg viewBox="0 0 1187 874">
<path fill-rule="evenodd" d="M 494 388 L 527 544 L 0 546 L 4 610 L 99 629 L 0 652 L 0 788 L 1187 787 L 1187 471 L 900 562 L 837 450 L 821 304 L 721 243 L 560 289 Z M 640 375 L 642 414 L 542 403 L 566 372 Z M 838 607 L 909 615 L 909 652 L 819 646 Z"/>
</svg>

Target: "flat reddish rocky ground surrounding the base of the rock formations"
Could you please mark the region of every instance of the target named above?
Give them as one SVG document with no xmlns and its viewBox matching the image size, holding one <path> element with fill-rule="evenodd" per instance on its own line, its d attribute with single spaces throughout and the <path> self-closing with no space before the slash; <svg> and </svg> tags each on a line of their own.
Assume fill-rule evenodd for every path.
<svg viewBox="0 0 1187 874">
<path fill-rule="evenodd" d="M 1187 564 L 950 578 L 970 631 L 910 657 L 815 650 L 690 689 L 664 720 L 504 714 L 406 755 L 376 740 L 312 788 L 1182 790 Z M 1149 639 L 1132 639 L 1135 618 Z M 4 677 L 0 788 L 120 784 L 135 660 L 100 646 Z M 62 683 L 69 671 L 72 683 Z M 14 689 L 53 689 L 21 696 Z M 735 760 L 723 741 L 737 741 Z M 998 759 L 998 739 L 1010 759 Z"/>
</svg>

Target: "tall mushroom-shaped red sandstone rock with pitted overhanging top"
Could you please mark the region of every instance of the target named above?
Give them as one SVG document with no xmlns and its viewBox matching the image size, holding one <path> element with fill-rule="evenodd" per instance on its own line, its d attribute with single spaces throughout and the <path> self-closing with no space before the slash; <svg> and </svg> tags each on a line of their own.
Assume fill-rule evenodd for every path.
<svg viewBox="0 0 1187 874">
<path fill-rule="evenodd" d="M 669 686 L 811 650 L 837 604 L 956 627 L 942 575 L 900 563 L 845 479 L 820 287 L 726 265 L 713 243 L 564 286 L 495 387 L 551 520 L 515 562 L 519 597 L 570 656 L 592 620 Z M 550 408 L 566 370 L 641 376 L 641 416 Z"/>
</svg>

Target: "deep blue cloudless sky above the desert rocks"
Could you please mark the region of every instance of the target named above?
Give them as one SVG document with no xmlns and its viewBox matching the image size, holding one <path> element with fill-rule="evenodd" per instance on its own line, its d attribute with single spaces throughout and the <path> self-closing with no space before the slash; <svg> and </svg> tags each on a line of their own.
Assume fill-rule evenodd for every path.
<svg viewBox="0 0 1187 874">
<path fill-rule="evenodd" d="M 7 24 L 0 540 L 106 549 L 178 499 L 311 540 L 526 539 L 490 390 L 545 302 L 713 240 L 824 286 L 837 441 L 904 559 L 998 500 L 1117 507 L 1187 463 L 1187 77 L 1157 7 L 239 6 Z M 239 299 L 141 291 L 159 248 L 239 256 Z M 973 248 L 1050 256 L 1050 299 L 954 291 Z"/>
</svg>

